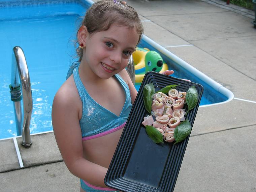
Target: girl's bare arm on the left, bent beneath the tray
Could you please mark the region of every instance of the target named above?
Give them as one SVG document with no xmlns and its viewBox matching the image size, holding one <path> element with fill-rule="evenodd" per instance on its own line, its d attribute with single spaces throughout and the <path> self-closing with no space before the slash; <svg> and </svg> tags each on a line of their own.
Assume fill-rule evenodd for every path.
<svg viewBox="0 0 256 192">
<path fill-rule="evenodd" d="M 107 187 L 104 177 L 107 168 L 86 160 L 83 156 L 82 133 L 79 125 L 79 105 L 72 91 L 60 89 L 53 101 L 54 135 L 69 171 L 88 183 Z M 78 93 L 77 93 L 78 94 Z"/>
</svg>

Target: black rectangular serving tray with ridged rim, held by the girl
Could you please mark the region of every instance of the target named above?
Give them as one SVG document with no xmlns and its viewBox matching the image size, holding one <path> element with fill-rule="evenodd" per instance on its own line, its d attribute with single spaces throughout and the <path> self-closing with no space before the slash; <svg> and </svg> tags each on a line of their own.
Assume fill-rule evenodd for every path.
<svg viewBox="0 0 256 192">
<path fill-rule="evenodd" d="M 175 145 L 156 144 L 149 138 L 141 124 L 143 117 L 150 115 L 143 101 L 143 88 L 149 83 L 156 91 L 173 84 L 180 84 L 175 88 L 178 91 L 196 87 L 197 105 L 185 116 L 191 127 L 203 93 L 203 87 L 193 82 L 152 71 L 145 74 L 104 180 L 105 185 L 124 192 L 173 191 L 190 136 Z"/>
</svg>

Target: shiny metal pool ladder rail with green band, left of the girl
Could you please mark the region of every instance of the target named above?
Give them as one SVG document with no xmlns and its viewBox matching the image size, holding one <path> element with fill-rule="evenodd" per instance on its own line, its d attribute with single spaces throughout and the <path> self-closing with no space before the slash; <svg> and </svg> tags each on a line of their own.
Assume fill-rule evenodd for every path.
<svg viewBox="0 0 256 192">
<path fill-rule="evenodd" d="M 28 66 L 21 47 L 15 46 L 12 54 L 10 93 L 13 101 L 17 135 L 22 135 L 22 145 L 30 147 L 30 119 L 33 101 Z M 20 81 L 19 81 L 20 79 Z M 20 84 L 21 83 L 21 84 Z M 23 119 L 21 113 L 21 99 L 23 97 Z"/>
</svg>

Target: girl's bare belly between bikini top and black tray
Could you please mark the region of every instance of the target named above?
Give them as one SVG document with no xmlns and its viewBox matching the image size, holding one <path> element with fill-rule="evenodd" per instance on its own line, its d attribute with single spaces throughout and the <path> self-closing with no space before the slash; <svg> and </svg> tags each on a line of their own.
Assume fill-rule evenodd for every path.
<svg viewBox="0 0 256 192">
<path fill-rule="evenodd" d="M 115 153 L 123 128 L 113 133 L 83 141 L 84 157 L 108 168 Z"/>
</svg>

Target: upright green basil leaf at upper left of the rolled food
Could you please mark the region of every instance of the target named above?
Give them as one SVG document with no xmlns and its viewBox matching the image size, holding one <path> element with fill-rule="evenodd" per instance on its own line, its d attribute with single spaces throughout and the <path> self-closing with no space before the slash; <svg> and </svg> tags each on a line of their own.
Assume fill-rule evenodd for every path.
<svg viewBox="0 0 256 192">
<path fill-rule="evenodd" d="M 143 99 L 146 110 L 151 114 L 152 98 L 155 93 L 155 87 L 153 83 L 147 84 L 143 89 Z"/>
</svg>

